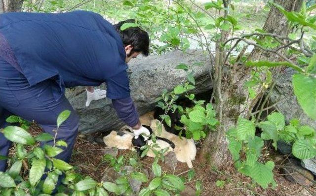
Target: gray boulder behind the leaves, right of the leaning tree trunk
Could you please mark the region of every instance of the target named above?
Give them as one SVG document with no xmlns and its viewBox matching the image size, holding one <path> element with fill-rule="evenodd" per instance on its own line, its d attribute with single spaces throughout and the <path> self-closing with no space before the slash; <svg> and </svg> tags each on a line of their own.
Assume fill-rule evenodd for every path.
<svg viewBox="0 0 316 196">
<path fill-rule="evenodd" d="M 293 118 L 300 120 L 302 125 L 309 125 L 316 130 L 316 121 L 309 118 L 298 104 L 296 97 L 293 94 L 292 75 L 295 71 L 291 68 L 286 68 L 280 78 L 276 82 L 276 86 L 272 91 L 270 100 L 272 103 L 281 100 L 276 104 L 276 109 L 285 116 L 285 120 L 289 121 Z M 288 151 L 289 145 L 279 145 L 280 151 Z M 316 158 L 302 160 L 302 166 L 314 174 L 316 174 Z"/>
</svg>

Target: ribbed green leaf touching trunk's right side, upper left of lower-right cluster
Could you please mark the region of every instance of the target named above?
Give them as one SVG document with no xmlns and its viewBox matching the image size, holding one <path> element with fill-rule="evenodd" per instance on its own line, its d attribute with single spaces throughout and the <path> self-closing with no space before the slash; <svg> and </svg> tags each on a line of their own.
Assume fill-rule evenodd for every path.
<svg viewBox="0 0 316 196">
<path fill-rule="evenodd" d="M 254 137 L 255 131 L 256 128 L 253 122 L 244 118 L 238 119 L 236 133 L 239 140 L 246 140 L 248 137 Z"/>
</svg>

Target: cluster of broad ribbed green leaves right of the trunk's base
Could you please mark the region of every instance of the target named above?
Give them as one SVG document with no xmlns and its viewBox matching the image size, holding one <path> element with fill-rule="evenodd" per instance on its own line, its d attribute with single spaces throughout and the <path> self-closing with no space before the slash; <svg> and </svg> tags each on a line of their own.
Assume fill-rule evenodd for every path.
<svg viewBox="0 0 316 196">
<path fill-rule="evenodd" d="M 254 135 L 255 127 L 262 130 L 261 137 Z M 228 130 L 226 136 L 229 141 L 228 149 L 238 171 L 250 176 L 263 188 L 267 188 L 269 184 L 275 187 L 276 182 L 272 172 L 274 163 L 268 161 L 263 164 L 258 161 L 263 148 L 263 139 L 273 140 L 275 149 L 278 140 L 291 142 L 293 143 L 292 153 L 295 157 L 310 159 L 316 156 L 315 133 L 313 128 L 301 126 L 297 119 L 291 120 L 290 125 L 285 126 L 284 116 L 274 112 L 268 115 L 267 121 L 258 124 L 239 118 L 237 128 Z"/>
</svg>

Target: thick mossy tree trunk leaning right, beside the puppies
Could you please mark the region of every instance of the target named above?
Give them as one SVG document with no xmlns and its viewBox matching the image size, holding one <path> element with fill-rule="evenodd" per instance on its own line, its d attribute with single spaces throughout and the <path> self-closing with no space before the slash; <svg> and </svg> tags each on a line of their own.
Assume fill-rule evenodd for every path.
<svg viewBox="0 0 316 196">
<path fill-rule="evenodd" d="M 287 11 L 298 11 L 303 0 L 275 0 Z M 288 34 L 288 23 L 286 18 L 278 9 L 272 7 L 263 30 L 268 33 L 276 33 L 281 36 Z M 254 49 L 248 60 L 258 61 L 259 59 L 277 61 L 278 57 L 270 53 L 263 53 L 259 49 Z M 223 65 L 222 65 L 223 66 Z M 219 88 L 221 92 L 221 103 L 217 106 L 217 111 L 221 110 L 221 124 L 217 131 L 210 133 L 203 142 L 200 154 L 201 161 L 208 161 L 218 169 L 225 168 L 232 164 L 231 154 L 226 141 L 226 131 L 235 127 L 238 117 L 249 118 L 249 113 L 262 95 L 262 87 L 256 89 L 256 98 L 249 99 L 248 92 L 243 84 L 251 78 L 251 68 L 244 65 L 233 65 L 230 70 L 230 78 L 227 81 L 221 76 L 222 84 Z M 264 79 L 265 76 L 261 76 Z M 225 85 L 225 82 L 227 85 Z M 218 108 L 221 107 L 221 108 Z M 217 113 L 218 114 L 218 113 Z"/>
</svg>

